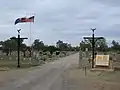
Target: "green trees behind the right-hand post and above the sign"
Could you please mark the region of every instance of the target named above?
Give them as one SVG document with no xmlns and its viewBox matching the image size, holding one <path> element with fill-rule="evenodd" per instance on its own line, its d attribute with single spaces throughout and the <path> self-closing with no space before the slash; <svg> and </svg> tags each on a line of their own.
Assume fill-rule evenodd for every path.
<svg viewBox="0 0 120 90">
<path fill-rule="evenodd" d="M 101 40 L 97 40 L 95 42 L 95 51 L 99 51 L 99 52 L 108 52 L 108 51 L 117 51 L 120 52 L 120 44 L 119 42 L 113 40 L 111 42 L 112 46 L 108 46 L 106 39 L 101 39 Z M 82 51 L 85 51 L 86 48 L 88 48 L 88 51 L 92 50 L 92 40 L 83 40 L 80 42 L 80 47 Z"/>
</svg>

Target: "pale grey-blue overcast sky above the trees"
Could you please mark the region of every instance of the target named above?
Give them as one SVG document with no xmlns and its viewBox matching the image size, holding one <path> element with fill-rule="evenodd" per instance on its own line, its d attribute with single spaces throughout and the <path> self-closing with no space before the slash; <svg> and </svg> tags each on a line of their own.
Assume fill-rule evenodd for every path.
<svg viewBox="0 0 120 90">
<path fill-rule="evenodd" d="M 39 38 L 45 44 L 63 40 L 79 45 L 94 27 L 96 36 L 108 42 L 120 39 L 120 0 L 1 0 L 0 12 L 0 40 L 17 36 L 18 28 L 22 37 L 29 38 L 30 24 L 15 26 L 14 22 L 30 15 L 35 15 L 31 39 Z"/>
</svg>

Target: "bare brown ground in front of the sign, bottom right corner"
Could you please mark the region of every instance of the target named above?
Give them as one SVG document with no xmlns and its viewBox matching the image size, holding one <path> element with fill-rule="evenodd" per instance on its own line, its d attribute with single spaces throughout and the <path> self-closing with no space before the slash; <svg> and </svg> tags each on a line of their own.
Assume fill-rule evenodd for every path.
<svg viewBox="0 0 120 90">
<path fill-rule="evenodd" d="M 66 86 L 73 90 L 120 90 L 120 71 L 91 72 L 87 70 L 85 76 L 84 70 L 74 68 L 68 71 L 66 78 Z"/>
</svg>

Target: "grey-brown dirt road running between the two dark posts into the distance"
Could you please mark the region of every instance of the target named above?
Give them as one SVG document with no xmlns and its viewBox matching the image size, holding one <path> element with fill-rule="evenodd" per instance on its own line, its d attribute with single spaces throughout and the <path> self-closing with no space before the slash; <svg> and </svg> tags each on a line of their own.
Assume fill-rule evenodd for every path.
<svg viewBox="0 0 120 90">
<path fill-rule="evenodd" d="M 67 56 L 30 71 L 5 72 L 0 77 L 0 90 L 64 90 L 62 73 L 78 63 L 78 55 Z"/>
</svg>

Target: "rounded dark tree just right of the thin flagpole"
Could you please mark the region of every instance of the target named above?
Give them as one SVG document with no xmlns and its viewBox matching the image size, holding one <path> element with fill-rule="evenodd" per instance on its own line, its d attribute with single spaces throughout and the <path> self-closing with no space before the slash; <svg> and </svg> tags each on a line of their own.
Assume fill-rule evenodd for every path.
<svg viewBox="0 0 120 90">
<path fill-rule="evenodd" d="M 36 40 L 34 40 L 32 47 L 33 47 L 33 49 L 38 50 L 38 51 L 43 50 L 44 43 L 43 43 L 43 41 L 36 39 Z"/>
</svg>

